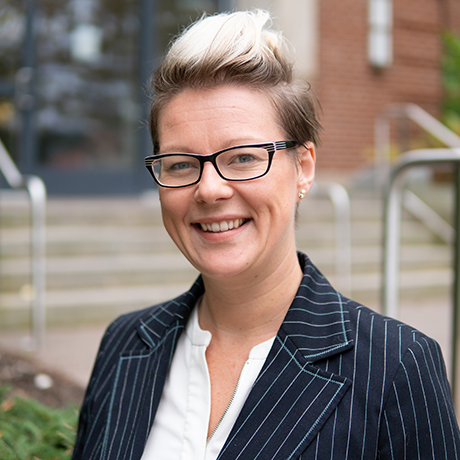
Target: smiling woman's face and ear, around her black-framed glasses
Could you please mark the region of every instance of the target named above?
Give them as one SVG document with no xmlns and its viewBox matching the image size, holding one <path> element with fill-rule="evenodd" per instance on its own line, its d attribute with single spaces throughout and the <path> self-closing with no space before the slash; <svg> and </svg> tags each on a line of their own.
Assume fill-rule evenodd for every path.
<svg viewBox="0 0 460 460">
<path fill-rule="evenodd" d="M 242 144 L 291 140 L 267 96 L 238 86 L 184 90 L 165 106 L 158 129 L 159 153 L 205 155 Z M 288 151 L 277 151 L 270 171 L 259 179 L 226 181 L 206 162 L 198 184 L 160 187 L 164 225 L 203 276 L 256 277 L 292 255 L 298 192 L 308 191 L 314 177 L 314 148 L 308 147 L 299 147 L 300 164 Z M 218 230 L 205 231 L 202 224 Z"/>
</svg>

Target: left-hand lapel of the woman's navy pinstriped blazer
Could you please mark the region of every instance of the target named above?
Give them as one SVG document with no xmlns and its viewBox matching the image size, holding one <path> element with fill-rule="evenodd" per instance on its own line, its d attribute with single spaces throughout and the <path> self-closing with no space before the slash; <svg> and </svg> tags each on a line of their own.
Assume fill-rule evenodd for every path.
<svg viewBox="0 0 460 460">
<path fill-rule="evenodd" d="M 177 340 L 202 290 L 199 278 L 190 291 L 155 310 L 136 331 L 139 348 L 119 357 L 103 459 L 142 457 Z"/>
</svg>

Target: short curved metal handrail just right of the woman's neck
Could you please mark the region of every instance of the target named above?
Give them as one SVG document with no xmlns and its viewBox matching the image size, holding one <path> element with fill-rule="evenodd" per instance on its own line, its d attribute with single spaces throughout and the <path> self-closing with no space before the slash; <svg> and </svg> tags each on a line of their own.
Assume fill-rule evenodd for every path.
<svg viewBox="0 0 460 460">
<path fill-rule="evenodd" d="M 351 206 L 347 190 L 336 182 L 315 182 L 310 194 L 328 198 L 335 211 L 337 287 L 351 296 Z"/>
</svg>

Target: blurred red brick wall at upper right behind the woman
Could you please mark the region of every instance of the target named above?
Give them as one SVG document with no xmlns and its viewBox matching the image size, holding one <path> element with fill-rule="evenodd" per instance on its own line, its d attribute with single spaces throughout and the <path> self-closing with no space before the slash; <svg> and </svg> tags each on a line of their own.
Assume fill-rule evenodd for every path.
<svg viewBox="0 0 460 460">
<path fill-rule="evenodd" d="M 387 104 L 412 102 L 438 115 L 440 5 L 393 0 L 393 64 L 378 71 L 367 59 L 368 1 L 320 1 L 319 76 L 313 83 L 325 128 L 319 168 L 350 171 L 371 161 L 374 121 Z"/>
</svg>

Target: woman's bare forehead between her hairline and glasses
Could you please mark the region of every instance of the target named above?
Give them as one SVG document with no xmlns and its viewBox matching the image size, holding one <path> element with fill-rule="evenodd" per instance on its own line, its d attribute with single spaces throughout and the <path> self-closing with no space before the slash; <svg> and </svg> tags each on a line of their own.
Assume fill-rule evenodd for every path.
<svg viewBox="0 0 460 460">
<path fill-rule="evenodd" d="M 158 135 L 162 152 L 197 146 L 206 153 L 284 137 L 267 95 L 242 86 L 182 91 L 163 108 Z"/>
</svg>

